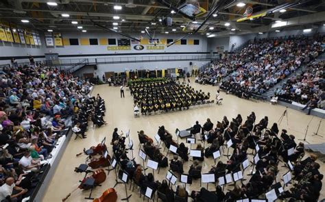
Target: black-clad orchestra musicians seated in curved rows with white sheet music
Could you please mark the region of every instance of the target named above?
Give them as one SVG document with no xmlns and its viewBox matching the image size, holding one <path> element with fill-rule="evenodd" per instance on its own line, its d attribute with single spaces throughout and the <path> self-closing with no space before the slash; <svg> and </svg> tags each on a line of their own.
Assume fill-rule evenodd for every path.
<svg viewBox="0 0 325 202">
<path fill-rule="evenodd" d="M 224 116 L 224 119 L 218 121 L 217 125 L 214 125 L 208 118 L 204 126 L 196 132 L 201 141 L 206 141 L 205 144 L 212 144 L 206 146 L 204 150 L 202 144 L 197 142 L 197 147 L 191 149 L 190 152 L 183 142 L 176 143 L 164 126 L 159 127 L 156 136 L 159 136 L 159 140 L 164 142 L 165 148 L 169 149 L 166 156 L 170 160 L 169 171 L 163 173 L 163 176 L 166 176 L 163 181 L 155 180 L 152 173 L 145 172 L 147 169 L 143 167 L 145 162 L 142 166 L 142 163 L 136 163 L 134 159 L 127 156 L 130 150 L 125 145 L 125 138 L 117 134 L 117 129 L 112 135 L 112 142 L 115 142 L 113 156 L 120 164 L 119 173 L 126 173 L 131 184 L 133 184 L 132 191 L 134 191 L 134 187 L 137 187 L 140 190 L 140 195 L 143 194 L 149 199 L 153 199 L 156 194 L 156 197 L 163 201 L 167 199 L 169 201 L 189 201 L 190 198 L 193 201 L 241 201 L 242 199 L 262 198 L 268 200 L 317 201 L 324 177 L 320 173 L 320 164 L 315 162 L 317 156 L 312 154 L 311 157 L 303 160 L 305 154 L 303 142 L 296 142 L 295 136 L 287 134 L 285 129 L 280 131 L 276 123 L 270 127 L 267 116 L 256 124 L 255 119 L 254 112 L 247 116 L 245 121 L 241 114 L 232 118 L 232 121 L 228 121 L 228 118 Z M 200 124 L 197 122 L 196 125 Z M 157 140 L 156 136 L 155 139 Z M 196 138 L 195 134 L 192 138 Z M 164 160 L 163 167 L 167 166 L 166 156 L 163 155 L 165 149 L 160 151 L 158 142 L 158 145 L 154 143 L 154 140 L 146 136 L 144 131 L 139 132 L 139 140 L 139 156 L 144 161 L 146 156 L 149 156 L 150 160 L 158 162 L 160 166 L 161 159 L 155 157 L 155 155 L 160 155 Z M 141 149 L 142 145 L 143 149 Z M 228 147 L 228 152 L 226 147 Z M 248 149 L 255 151 L 252 162 L 248 158 L 250 155 Z M 192 155 L 193 150 L 199 151 L 199 155 Z M 221 151 L 224 155 L 230 154 L 228 160 L 218 159 L 216 164 L 210 167 L 208 173 L 202 173 L 204 158 L 213 157 L 216 159 L 215 152 L 219 152 L 220 155 Z M 206 155 L 205 153 L 209 154 Z M 179 157 L 182 160 L 179 160 Z M 184 164 L 192 157 L 193 162 L 188 164 L 190 165 L 189 171 L 186 171 Z M 245 168 L 248 168 L 250 164 L 254 165 L 252 173 L 248 173 L 252 175 L 251 177 L 244 175 L 244 172 L 248 171 Z M 283 182 L 277 181 L 281 164 L 290 169 L 283 175 Z M 162 172 L 160 171 L 160 173 Z M 177 177 L 177 175 L 180 176 Z M 191 192 L 187 192 L 184 186 L 179 185 L 176 190 L 173 190 L 173 186 L 168 186 L 168 184 L 173 184 L 175 179 L 184 184 L 199 183 L 195 182 L 195 179 L 201 180 L 200 178 L 203 178 L 203 175 L 208 175 L 211 182 L 216 184 L 215 190 L 207 190 L 206 188 L 193 190 L 191 188 L 194 186 L 190 186 Z M 173 179 L 173 177 L 175 178 Z M 247 181 L 242 181 L 244 178 Z M 225 184 L 234 181 L 241 181 L 241 184 L 234 184 L 232 190 L 222 188 Z M 290 188 L 282 188 L 284 187 L 282 186 L 283 183 L 288 184 L 289 182 L 293 184 L 289 185 Z M 147 194 L 148 188 L 152 194 Z M 269 192 L 272 190 L 274 195 L 270 196 L 272 194 Z"/>
</svg>

